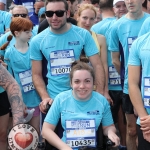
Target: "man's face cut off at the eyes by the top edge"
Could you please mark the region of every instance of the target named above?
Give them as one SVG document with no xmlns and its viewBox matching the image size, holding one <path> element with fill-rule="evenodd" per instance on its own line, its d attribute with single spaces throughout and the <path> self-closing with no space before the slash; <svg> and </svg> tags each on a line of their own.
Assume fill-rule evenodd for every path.
<svg viewBox="0 0 150 150">
<path fill-rule="evenodd" d="M 142 11 L 144 0 L 125 0 L 125 4 L 129 13 L 137 13 Z"/>
</svg>

